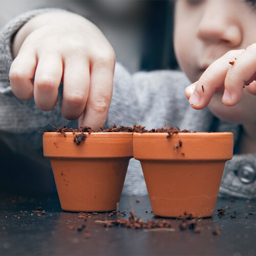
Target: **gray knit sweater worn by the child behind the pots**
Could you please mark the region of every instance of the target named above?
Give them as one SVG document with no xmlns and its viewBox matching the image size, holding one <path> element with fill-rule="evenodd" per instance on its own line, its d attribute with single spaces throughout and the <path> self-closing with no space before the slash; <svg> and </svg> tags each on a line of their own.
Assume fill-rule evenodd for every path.
<svg viewBox="0 0 256 256">
<path fill-rule="evenodd" d="M 12 149 L 26 152 L 33 158 L 43 158 L 40 129 L 49 123 L 62 125 L 60 113 L 62 88 L 54 110 L 37 109 L 34 99 L 18 100 L 12 93 L 8 74 L 12 63 L 12 35 L 29 19 L 50 9 L 27 12 L 11 20 L 0 32 L 0 137 Z M 194 110 L 188 104 L 184 90 L 190 82 L 182 72 L 154 71 L 130 74 L 119 63 L 115 67 L 114 91 L 106 126 L 141 124 L 146 129 L 158 128 L 166 122 L 181 129 L 198 132 L 232 132 L 235 146 L 238 144 L 240 127 L 218 120 L 209 110 Z M 64 121 L 67 126 L 77 126 L 77 121 Z M 15 131 L 15 133 L 14 133 Z M 225 166 L 220 196 L 256 198 L 256 154 L 234 155 Z M 124 194 L 147 193 L 140 163 L 130 161 Z"/>
</svg>

